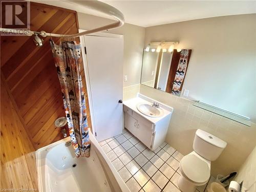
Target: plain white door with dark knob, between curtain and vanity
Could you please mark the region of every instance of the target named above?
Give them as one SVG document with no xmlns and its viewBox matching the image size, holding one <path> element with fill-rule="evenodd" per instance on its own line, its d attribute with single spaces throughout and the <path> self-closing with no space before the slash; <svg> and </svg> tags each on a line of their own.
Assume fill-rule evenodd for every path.
<svg viewBox="0 0 256 192">
<path fill-rule="evenodd" d="M 122 133 L 122 103 L 118 101 L 123 97 L 123 36 L 97 34 L 105 35 L 83 36 L 84 69 L 93 133 L 102 141 Z M 83 50 L 83 59 L 84 55 Z"/>
</svg>

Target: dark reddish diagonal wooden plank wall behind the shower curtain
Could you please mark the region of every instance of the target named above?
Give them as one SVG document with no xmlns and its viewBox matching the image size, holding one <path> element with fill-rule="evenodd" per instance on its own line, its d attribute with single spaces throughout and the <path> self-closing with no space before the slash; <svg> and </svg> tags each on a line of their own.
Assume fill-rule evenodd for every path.
<svg viewBox="0 0 256 192">
<path fill-rule="evenodd" d="M 59 34 L 78 32 L 75 11 L 32 2 L 30 7 L 31 30 Z M 53 40 L 59 42 L 59 38 Z M 44 46 L 38 48 L 33 44 L 33 37 L 1 37 L 1 75 L 35 150 L 62 139 L 61 129 L 54 126 L 54 120 L 65 116 L 49 37 L 44 41 Z M 85 78 L 83 83 L 91 127 Z"/>
</svg>

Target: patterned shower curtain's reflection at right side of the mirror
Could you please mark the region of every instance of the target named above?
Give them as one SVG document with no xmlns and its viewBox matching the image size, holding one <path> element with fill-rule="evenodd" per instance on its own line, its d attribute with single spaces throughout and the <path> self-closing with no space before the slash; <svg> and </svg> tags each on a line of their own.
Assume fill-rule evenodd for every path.
<svg viewBox="0 0 256 192">
<path fill-rule="evenodd" d="M 178 68 L 176 71 L 176 75 L 174 78 L 174 85 L 172 89 L 172 94 L 174 95 L 180 95 L 181 90 L 181 84 L 184 80 L 186 69 L 187 69 L 187 59 L 188 59 L 189 50 L 188 49 L 182 49 L 180 53 L 180 60 L 178 64 Z"/>
</svg>

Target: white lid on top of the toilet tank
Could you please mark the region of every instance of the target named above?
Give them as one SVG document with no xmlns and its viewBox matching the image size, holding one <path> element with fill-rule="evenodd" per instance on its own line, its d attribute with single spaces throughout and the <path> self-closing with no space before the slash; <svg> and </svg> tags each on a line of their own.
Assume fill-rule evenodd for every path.
<svg viewBox="0 0 256 192">
<path fill-rule="evenodd" d="M 227 143 L 220 138 L 211 135 L 203 130 L 198 129 L 196 132 L 196 135 L 206 141 L 207 143 L 210 143 L 212 145 L 215 145 L 220 148 L 225 148 L 227 146 Z"/>
</svg>

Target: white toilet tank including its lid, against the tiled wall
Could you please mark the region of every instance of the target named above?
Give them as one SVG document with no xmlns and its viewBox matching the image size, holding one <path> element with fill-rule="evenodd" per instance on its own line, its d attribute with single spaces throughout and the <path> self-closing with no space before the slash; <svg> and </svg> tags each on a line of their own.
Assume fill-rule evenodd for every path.
<svg viewBox="0 0 256 192">
<path fill-rule="evenodd" d="M 225 141 L 203 130 L 197 130 L 193 143 L 194 151 L 209 161 L 215 161 L 226 146 Z"/>
</svg>

